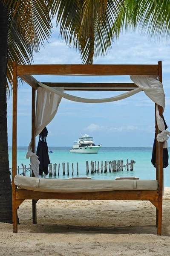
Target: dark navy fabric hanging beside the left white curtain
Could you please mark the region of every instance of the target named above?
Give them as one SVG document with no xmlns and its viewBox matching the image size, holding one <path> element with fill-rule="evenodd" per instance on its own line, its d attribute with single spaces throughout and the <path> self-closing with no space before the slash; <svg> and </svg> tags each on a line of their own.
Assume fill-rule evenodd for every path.
<svg viewBox="0 0 170 256">
<path fill-rule="evenodd" d="M 50 164 L 50 160 L 49 160 L 49 149 L 46 143 L 47 134 L 48 134 L 48 131 L 46 127 L 39 134 L 40 137 L 37 145 L 37 156 L 38 156 L 38 160 L 40 161 L 39 175 L 42 175 L 43 172 L 46 175 L 49 173 L 48 166 Z"/>
</svg>

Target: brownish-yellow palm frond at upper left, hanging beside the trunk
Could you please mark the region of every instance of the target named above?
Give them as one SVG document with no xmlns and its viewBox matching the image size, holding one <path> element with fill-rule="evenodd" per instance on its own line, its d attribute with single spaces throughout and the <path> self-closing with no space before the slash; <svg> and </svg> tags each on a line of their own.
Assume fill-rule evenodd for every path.
<svg viewBox="0 0 170 256">
<path fill-rule="evenodd" d="M 13 61 L 31 64 L 33 52 L 51 35 L 48 4 L 53 0 L 3 0 L 9 8 L 7 92 L 12 88 Z"/>
</svg>

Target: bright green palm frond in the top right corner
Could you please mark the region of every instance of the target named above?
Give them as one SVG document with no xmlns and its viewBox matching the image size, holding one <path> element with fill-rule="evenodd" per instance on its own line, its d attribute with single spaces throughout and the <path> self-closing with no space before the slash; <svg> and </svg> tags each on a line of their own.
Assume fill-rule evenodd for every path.
<svg viewBox="0 0 170 256">
<path fill-rule="evenodd" d="M 124 0 L 119 20 L 127 31 L 138 29 L 150 40 L 169 43 L 170 0 Z"/>
</svg>

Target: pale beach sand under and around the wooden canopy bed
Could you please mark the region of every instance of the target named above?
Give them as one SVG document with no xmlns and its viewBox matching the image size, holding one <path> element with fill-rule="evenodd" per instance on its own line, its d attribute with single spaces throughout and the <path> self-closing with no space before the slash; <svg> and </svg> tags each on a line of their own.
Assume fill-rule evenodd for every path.
<svg viewBox="0 0 170 256">
<path fill-rule="evenodd" d="M 170 188 L 163 199 L 162 236 L 147 201 L 40 200 L 18 210 L 21 225 L 0 223 L 0 256 L 170 256 Z"/>
</svg>

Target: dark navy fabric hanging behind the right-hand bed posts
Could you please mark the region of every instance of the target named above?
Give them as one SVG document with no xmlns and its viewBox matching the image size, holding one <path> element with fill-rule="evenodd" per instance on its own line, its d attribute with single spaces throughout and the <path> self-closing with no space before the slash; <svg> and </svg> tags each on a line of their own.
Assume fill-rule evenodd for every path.
<svg viewBox="0 0 170 256">
<path fill-rule="evenodd" d="M 162 119 L 164 120 L 164 116 L 162 116 Z M 165 125 L 165 129 L 167 129 L 167 124 L 165 120 L 164 120 L 164 125 Z M 169 159 L 168 150 L 167 148 L 163 148 L 163 168 L 166 168 L 168 166 L 168 159 Z M 155 133 L 155 140 L 153 143 L 151 163 L 156 168 L 156 133 Z"/>
</svg>

